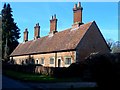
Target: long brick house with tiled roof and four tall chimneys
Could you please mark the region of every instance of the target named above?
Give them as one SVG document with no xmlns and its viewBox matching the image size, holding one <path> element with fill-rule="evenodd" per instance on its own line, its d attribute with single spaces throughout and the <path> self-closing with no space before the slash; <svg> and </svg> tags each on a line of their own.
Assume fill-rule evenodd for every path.
<svg viewBox="0 0 120 90">
<path fill-rule="evenodd" d="M 91 53 L 106 53 L 110 49 L 95 21 L 82 22 L 81 3 L 73 8 L 73 25 L 57 31 L 56 15 L 50 20 L 50 32 L 40 37 L 39 23 L 34 27 L 34 40 L 28 41 L 28 30 L 24 31 L 24 42 L 20 43 L 10 57 L 15 64 L 42 64 L 46 67 L 68 67 L 80 62 Z"/>
</svg>

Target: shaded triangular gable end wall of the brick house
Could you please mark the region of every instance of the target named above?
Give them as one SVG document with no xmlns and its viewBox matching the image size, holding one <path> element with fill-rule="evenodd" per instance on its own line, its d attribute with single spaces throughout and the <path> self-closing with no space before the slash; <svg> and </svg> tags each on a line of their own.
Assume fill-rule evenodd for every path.
<svg viewBox="0 0 120 90">
<path fill-rule="evenodd" d="M 77 47 L 77 61 L 84 59 L 91 53 L 97 52 L 106 53 L 110 52 L 110 49 L 108 48 L 101 32 L 94 22 Z"/>
</svg>

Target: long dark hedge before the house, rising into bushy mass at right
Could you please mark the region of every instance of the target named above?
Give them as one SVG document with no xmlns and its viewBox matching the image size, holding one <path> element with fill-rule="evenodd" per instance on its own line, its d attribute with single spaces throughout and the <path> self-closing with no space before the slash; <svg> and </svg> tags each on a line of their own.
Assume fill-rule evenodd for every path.
<svg viewBox="0 0 120 90">
<path fill-rule="evenodd" d="M 120 88 L 120 53 L 90 55 L 79 63 L 68 68 L 50 68 L 39 65 L 3 65 L 11 69 L 27 73 L 39 73 L 57 78 L 78 77 L 84 81 L 95 81 L 101 89 Z"/>
</svg>

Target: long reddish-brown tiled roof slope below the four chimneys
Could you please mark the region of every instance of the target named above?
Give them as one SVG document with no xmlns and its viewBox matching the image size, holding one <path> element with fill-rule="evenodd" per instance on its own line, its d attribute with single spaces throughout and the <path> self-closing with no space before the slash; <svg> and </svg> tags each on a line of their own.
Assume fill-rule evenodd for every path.
<svg viewBox="0 0 120 90">
<path fill-rule="evenodd" d="M 53 36 L 41 37 L 20 43 L 10 56 L 45 53 L 75 49 L 93 22 L 80 25 L 79 28 L 69 28 L 55 33 Z"/>
</svg>

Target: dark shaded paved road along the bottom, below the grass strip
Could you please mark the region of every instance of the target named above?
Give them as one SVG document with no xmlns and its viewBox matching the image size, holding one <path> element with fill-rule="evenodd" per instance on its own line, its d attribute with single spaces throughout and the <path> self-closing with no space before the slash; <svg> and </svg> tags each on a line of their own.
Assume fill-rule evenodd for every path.
<svg viewBox="0 0 120 90">
<path fill-rule="evenodd" d="M 12 80 L 8 77 L 2 77 L 3 90 L 4 88 L 14 89 L 30 89 L 30 90 L 49 90 L 49 89 L 68 89 L 68 88 L 80 88 L 80 87 L 95 87 L 96 83 L 93 82 L 69 82 L 69 83 L 25 83 Z"/>
</svg>

